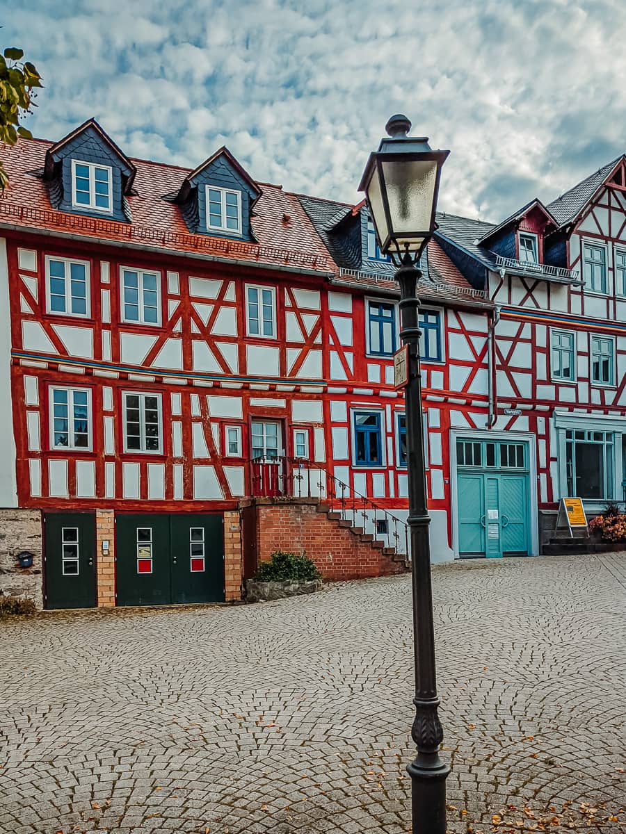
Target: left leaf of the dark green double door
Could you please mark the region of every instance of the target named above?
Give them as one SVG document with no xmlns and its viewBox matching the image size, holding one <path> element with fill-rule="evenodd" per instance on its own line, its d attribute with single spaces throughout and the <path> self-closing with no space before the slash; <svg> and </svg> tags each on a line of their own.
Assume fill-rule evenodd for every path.
<svg viewBox="0 0 626 834">
<path fill-rule="evenodd" d="M 118 605 L 169 605 L 169 515 L 115 516 Z"/>
</svg>

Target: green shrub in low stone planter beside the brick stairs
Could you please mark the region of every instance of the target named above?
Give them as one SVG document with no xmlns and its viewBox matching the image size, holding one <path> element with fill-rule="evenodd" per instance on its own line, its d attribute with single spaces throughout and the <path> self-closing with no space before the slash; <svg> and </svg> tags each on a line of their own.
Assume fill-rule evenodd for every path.
<svg viewBox="0 0 626 834">
<path fill-rule="evenodd" d="M 321 573 L 305 553 L 298 555 L 275 550 L 270 560 L 261 562 L 254 579 L 246 581 L 247 602 L 280 600 L 286 596 L 310 594 L 321 588 Z"/>
</svg>

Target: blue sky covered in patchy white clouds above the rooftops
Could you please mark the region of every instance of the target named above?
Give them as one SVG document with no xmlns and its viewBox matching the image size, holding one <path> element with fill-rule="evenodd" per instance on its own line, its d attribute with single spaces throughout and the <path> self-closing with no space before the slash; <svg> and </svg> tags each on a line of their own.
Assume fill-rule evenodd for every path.
<svg viewBox="0 0 626 834">
<path fill-rule="evenodd" d="M 10 13 L 8 8 L 10 5 Z M 13 0 L 0 41 L 45 90 L 27 126 L 95 116 L 130 156 L 356 201 L 391 113 L 450 148 L 440 208 L 498 220 L 626 150 L 623 0 Z"/>
</svg>

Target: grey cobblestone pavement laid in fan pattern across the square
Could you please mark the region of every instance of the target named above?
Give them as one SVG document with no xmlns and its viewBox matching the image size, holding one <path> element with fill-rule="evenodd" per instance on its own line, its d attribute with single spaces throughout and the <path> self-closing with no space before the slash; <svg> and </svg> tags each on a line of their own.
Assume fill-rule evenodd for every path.
<svg viewBox="0 0 626 834">
<path fill-rule="evenodd" d="M 624 831 L 626 554 L 433 570 L 449 831 Z M 409 829 L 410 577 L 0 624 L 0 831 Z"/>
</svg>

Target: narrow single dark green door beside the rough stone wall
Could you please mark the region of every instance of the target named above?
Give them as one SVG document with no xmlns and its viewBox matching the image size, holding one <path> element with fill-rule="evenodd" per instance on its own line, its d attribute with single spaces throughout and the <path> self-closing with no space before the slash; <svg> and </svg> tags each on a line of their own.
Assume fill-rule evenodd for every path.
<svg viewBox="0 0 626 834">
<path fill-rule="evenodd" d="M 96 520 L 93 513 L 46 513 L 46 608 L 96 604 Z"/>
</svg>

